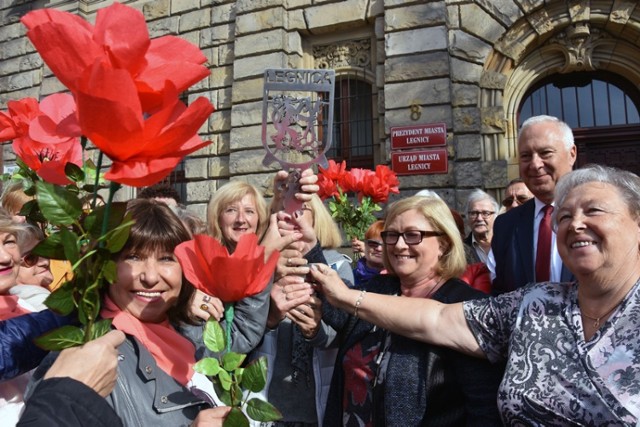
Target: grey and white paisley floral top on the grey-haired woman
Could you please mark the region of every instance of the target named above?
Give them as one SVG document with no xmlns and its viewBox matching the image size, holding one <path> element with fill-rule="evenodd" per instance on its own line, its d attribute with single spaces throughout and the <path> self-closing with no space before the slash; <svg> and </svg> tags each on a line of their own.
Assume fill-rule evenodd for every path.
<svg viewBox="0 0 640 427">
<path fill-rule="evenodd" d="M 507 359 L 505 425 L 632 425 L 640 418 L 640 282 L 585 341 L 576 283 L 464 303 L 489 360 Z"/>
</svg>

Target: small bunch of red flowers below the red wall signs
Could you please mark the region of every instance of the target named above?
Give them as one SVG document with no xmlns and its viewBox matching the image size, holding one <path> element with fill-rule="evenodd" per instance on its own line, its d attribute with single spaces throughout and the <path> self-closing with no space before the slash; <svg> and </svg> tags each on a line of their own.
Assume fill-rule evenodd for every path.
<svg viewBox="0 0 640 427">
<path fill-rule="evenodd" d="M 398 177 L 386 165 L 376 170 L 346 169 L 346 162 L 337 164 L 329 160 L 329 166 L 319 168 L 318 196 L 331 199 L 329 211 L 351 239 L 364 239 L 364 233 L 376 220 L 374 212 L 381 211 L 379 203 L 386 203 L 390 193 L 398 194 Z M 349 195 L 356 196 L 353 202 Z"/>
</svg>

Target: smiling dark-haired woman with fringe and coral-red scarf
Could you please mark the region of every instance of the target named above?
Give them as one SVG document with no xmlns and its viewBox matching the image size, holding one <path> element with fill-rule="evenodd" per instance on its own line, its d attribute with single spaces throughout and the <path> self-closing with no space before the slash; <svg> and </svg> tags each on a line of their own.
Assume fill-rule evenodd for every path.
<svg viewBox="0 0 640 427">
<path fill-rule="evenodd" d="M 115 254 L 116 279 L 100 312 L 127 334 L 118 348 L 118 380 L 106 399 L 127 426 L 189 425 L 216 398 L 211 382 L 193 370 L 196 354 L 207 350 L 202 326 L 189 312 L 194 288 L 174 255 L 191 236 L 164 203 L 137 199 L 127 211 L 134 224 Z M 56 357 L 47 356 L 37 381 Z"/>
</svg>

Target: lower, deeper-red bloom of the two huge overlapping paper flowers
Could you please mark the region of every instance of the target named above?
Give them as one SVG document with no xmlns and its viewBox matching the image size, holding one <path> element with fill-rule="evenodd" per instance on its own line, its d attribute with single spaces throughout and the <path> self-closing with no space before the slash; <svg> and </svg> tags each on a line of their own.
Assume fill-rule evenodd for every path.
<svg viewBox="0 0 640 427">
<path fill-rule="evenodd" d="M 134 187 L 155 184 L 184 156 L 209 144 L 197 135 L 213 112 L 206 98 L 186 107 L 167 82 L 163 104 L 145 118 L 126 71 L 96 63 L 86 73 L 76 92 L 78 117 L 82 133 L 113 162 L 106 179 Z"/>
</svg>

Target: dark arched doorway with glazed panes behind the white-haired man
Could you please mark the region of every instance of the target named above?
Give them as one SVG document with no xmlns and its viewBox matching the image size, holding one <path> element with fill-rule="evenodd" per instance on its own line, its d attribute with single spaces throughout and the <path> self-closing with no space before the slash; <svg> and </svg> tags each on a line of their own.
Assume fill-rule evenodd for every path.
<svg viewBox="0 0 640 427">
<path fill-rule="evenodd" d="M 599 163 L 640 174 L 639 106 L 640 91 L 616 74 L 554 74 L 527 91 L 518 127 L 534 115 L 556 116 L 574 131 L 577 167 Z"/>
</svg>

